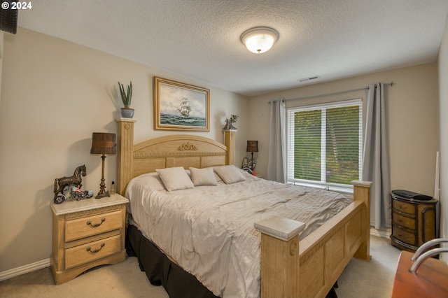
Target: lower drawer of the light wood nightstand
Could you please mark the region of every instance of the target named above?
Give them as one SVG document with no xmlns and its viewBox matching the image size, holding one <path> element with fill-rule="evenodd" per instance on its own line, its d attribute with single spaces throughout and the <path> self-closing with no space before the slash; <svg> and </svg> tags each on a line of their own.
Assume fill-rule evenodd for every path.
<svg viewBox="0 0 448 298">
<path fill-rule="evenodd" d="M 121 235 L 69 248 L 65 252 L 65 269 L 120 253 Z"/>
</svg>

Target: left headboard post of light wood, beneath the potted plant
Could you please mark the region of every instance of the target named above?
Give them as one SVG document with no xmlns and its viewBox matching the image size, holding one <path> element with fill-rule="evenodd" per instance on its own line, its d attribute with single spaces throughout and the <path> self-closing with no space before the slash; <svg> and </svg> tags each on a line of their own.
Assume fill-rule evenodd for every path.
<svg viewBox="0 0 448 298">
<path fill-rule="evenodd" d="M 131 118 L 116 119 L 117 129 L 117 192 L 125 195 L 127 183 L 132 179 L 134 122 Z"/>
</svg>

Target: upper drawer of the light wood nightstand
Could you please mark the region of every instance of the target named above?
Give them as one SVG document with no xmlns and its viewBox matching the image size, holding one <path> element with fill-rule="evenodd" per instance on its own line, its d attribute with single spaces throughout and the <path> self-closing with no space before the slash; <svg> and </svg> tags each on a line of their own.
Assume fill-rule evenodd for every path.
<svg viewBox="0 0 448 298">
<path fill-rule="evenodd" d="M 122 211 L 97 214 L 65 223 L 65 241 L 73 241 L 88 236 L 123 228 Z"/>
</svg>

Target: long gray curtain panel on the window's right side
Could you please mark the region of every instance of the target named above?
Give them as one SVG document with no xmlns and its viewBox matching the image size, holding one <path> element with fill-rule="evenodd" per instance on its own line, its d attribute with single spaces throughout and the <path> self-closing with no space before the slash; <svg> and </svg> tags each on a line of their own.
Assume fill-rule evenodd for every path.
<svg viewBox="0 0 448 298">
<path fill-rule="evenodd" d="M 386 133 L 384 83 L 372 84 L 367 92 L 367 118 L 363 150 L 363 180 L 372 181 L 370 225 L 391 227 L 391 182 Z"/>
</svg>

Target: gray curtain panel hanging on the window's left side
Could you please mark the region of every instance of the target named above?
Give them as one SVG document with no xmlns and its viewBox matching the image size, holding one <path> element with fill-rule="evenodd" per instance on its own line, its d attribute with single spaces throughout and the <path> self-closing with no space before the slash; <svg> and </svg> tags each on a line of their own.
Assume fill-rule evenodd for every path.
<svg viewBox="0 0 448 298">
<path fill-rule="evenodd" d="M 285 182 L 286 163 L 286 107 L 283 99 L 270 101 L 269 157 L 267 180 Z"/>
</svg>

